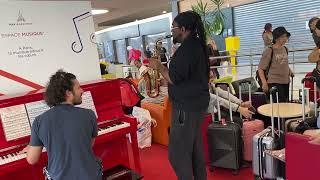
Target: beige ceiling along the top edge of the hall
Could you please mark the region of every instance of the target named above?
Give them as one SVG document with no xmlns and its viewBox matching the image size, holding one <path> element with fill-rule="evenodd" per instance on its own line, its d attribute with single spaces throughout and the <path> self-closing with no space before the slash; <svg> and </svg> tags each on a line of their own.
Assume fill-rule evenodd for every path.
<svg viewBox="0 0 320 180">
<path fill-rule="evenodd" d="M 45 0 L 35 0 L 45 1 Z M 66 1 L 66 0 L 55 0 Z M 72 0 L 71 0 L 72 1 Z M 81 1 L 81 0 L 80 0 Z M 92 9 L 106 9 L 108 13 L 94 15 L 96 31 L 141 20 L 163 12 L 171 12 L 171 2 L 184 1 L 187 6 L 196 0 L 91 0 Z M 209 0 L 203 0 L 204 2 Z M 259 0 L 226 0 L 229 4 L 240 5 Z M 189 4 L 189 5 L 188 5 Z M 187 7 L 189 9 L 190 7 Z"/>
</svg>

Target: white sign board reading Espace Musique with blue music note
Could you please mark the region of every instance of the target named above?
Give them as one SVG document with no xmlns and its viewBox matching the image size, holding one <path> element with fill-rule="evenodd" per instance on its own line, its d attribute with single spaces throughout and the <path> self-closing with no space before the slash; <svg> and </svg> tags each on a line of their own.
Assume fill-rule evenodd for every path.
<svg viewBox="0 0 320 180">
<path fill-rule="evenodd" d="M 58 69 L 100 78 L 90 2 L 0 2 L 0 12 L 0 95 L 41 89 Z"/>
</svg>

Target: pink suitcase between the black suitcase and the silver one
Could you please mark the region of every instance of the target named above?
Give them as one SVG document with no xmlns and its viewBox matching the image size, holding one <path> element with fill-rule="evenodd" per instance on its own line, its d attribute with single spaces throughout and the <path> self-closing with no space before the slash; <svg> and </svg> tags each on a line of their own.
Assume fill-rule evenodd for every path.
<svg viewBox="0 0 320 180">
<path fill-rule="evenodd" d="M 241 85 L 249 84 L 249 101 L 251 101 L 251 81 L 242 82 L 239 85 L 239 98 L 241 99 Z M 241 116 L 241 115 L 240 115 Z M 259 119 L 243 119 L 242 139 L 243 139 L 243 160 L 252 161 L 252 140 L 253 136 L 264 130 L 264 123 Z"/>
</svg>

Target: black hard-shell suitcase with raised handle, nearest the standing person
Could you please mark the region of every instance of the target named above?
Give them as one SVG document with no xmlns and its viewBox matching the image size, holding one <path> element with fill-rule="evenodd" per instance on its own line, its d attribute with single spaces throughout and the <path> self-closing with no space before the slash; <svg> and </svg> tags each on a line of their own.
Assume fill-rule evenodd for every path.
<svg viewBox="0 0 320 180">
<path fill-rule="evenodd" d="M 230 95 L 230 87 L 226 83 L 217 83 L 227 85 L 228 94 Z M 219 96 L 216 91 L 217 97 Z M 229 96 L 228 96 L 229 97 Z M 210 158 L 210 171 L 214 167 L 221 167 L 232 169 L 232 174 L 239 173 L 241 163 L 241 128 L 240 125 L 233 122 L 232 110 L 229 108 L 230 122 L 221 119 L 220 103 L 217 101 L 218 120 L 209 125 L 207 129 L 209 158 Z M 229 97 L 230 107 L 230 97 Z"/>
</svg>

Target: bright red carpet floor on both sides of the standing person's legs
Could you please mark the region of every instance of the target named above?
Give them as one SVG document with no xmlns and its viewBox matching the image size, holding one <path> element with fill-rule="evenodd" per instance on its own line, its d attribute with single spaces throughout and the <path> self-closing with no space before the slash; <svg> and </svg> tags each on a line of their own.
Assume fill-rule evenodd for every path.
<svg viewBox="0 0 320 180">
<path fill-rule="evenodd" d="M 142 173 L 145 180 L 176 180 L 168 160 L 166 146 L 153 144 L 140 150 Z M 239 175 L 233 176 L 230 170 L 216 169 L 211 173 L 207 168 L 208 180 L 252 180 L 252 169 L 242 168 Z"/>
</svg>

